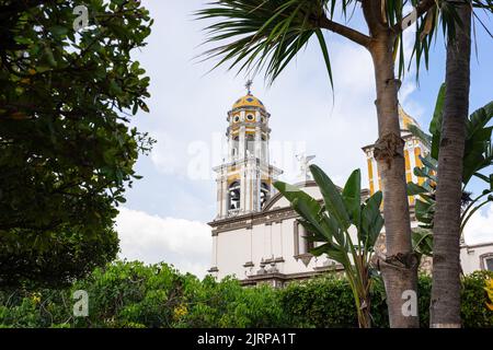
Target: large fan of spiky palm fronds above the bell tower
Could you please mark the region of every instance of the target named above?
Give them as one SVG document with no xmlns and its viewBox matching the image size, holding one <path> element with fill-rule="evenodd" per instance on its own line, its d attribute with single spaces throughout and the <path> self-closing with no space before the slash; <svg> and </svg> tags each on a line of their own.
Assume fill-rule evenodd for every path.
<svg viewBox="0 0 493 350">
<path fill-rule="evenodd" d="M 321 19 L 332 18 L 335 0 L 217 0 L 195 14 L 200 20 L 219 20 L 206 27 L 206 43 L 220 43 L 205 51 L 206 59 L 219 58 L 217 68 L 229 61 L 229 69 L 256 74 L 265 70 L 270 84 L 307 46 L 318 39 L 332 85 L 329 47 L 321 31 Z M 354 0 L 341 2 L 346 15 Z"/>
</svg>

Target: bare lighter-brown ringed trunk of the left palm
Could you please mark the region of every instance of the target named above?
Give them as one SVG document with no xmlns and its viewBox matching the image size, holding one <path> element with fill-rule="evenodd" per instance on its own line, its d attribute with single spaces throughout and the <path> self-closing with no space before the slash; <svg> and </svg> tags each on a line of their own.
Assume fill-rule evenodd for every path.
<svg viewBox="0 0 493 350">
<path fill-rule="evenodd" d="M 404 141 L 398 110 L 400 81 L 395 79 L 393 44 L 395 36 L 382 31 L 371 42 L 377 84 L 378 136 L 375 159 L 383 191 L 387 258 L 379 260 L 389 307 L 390 326 L 419 327 L 417 307 L 403 312 L 406 291 L 417 294 L 417 258 L 411 244 L 411 223 L 405 185 Z M 415 295 L 416 295 L 415 294 Z M 415 301 L 411 301 L 415 302 Z M 415 305 L 417 306 L 417 305 Z"/>
</svg>

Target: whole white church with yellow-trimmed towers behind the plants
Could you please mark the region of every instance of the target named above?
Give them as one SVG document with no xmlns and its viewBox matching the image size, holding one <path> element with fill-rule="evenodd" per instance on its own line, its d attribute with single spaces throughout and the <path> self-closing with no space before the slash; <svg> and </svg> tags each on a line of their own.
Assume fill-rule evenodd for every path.
<svg viewBox="0 0 493 350">
<path fill-rule="evenodd" d="M 252 95 L 251 82 L 246 88 L 246 95 L 236 101 L 228 112 L 228 156 L 223 164 L 214 168 L 217 174 L 217 215 L 209 222 L 213 257 L 208 273 L 217 279 L 236 276 L 243 285 L 267 282 L 283 287 L 293 280 L 343 271 L 335 261 L 310 254 L 312 243 L 305 238 L 306 232 L 297 220 L 298 214 L 274 188 L 273 184 L 283 171 L 270 162 L 272 130 L 268 125 L 272 116 L 262 101 Z M 413 170 L 422 165 L 420 155 L 429 150 L 408 131 L 410 125 L 419 127 L 419 124 L 402 107 L 399 108 L 399 118 L 405 141 L 406 182 L 417 183 L 420 178 Z M 362 190 L 363 198 L 381 188 L 372 151 L 374 145 L 363 147 L 369 186 Z M 305 168 L 311 159 L 303 158 Z M 317 184 L 309 176 L 295 186 L 322 200 Z M 413 208 L 414 198 L 410 198 L 411 225 L 416 228 Z M 377 248 L 385 248 L 382 235 Z M 493 242 L 474 246 L 462 242 L 461 264 L 465 273 L 493 270 Z"/>
</svg>

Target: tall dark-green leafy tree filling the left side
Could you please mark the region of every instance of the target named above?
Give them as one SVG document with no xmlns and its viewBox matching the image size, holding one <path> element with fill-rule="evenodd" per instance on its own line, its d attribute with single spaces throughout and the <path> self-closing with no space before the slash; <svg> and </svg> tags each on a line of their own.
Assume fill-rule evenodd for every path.
<svg viewBox="0 0 493 350">
<path fill-rule="evenodd" d="M 67 283 L 115 257 L 116 207 L 153 142 L 128 117 L 148 110 L 130 52 L 152 21 L 138 1 L 0 0 L 0 285 Z"/>
</svg>

